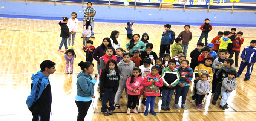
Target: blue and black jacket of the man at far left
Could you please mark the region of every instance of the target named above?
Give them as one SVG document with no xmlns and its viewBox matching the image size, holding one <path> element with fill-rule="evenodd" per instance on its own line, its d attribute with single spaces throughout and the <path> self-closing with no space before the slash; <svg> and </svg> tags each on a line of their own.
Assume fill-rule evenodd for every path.
<svg viewBox="0 0 256 121">
<path fill-rule="evenodd" d="M 31 77 L 31 92 L 26 100 L 29 110 L 36 115 L 47 115 L 51 112 L 52 91 L 49 78 L 43 71 L 38 71 Z"/>
</svg>

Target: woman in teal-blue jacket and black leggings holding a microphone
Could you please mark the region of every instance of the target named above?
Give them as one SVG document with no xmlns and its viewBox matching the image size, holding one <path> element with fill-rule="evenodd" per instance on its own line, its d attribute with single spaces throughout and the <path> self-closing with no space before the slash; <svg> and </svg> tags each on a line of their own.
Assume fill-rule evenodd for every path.
<svg viewBox="0 0 256 121">
<path fill-rule="evenodd" d="M 98 77 L 92 78 L 92 75 L 90 75 L 94 72 L 94 64 L 81 61 L 78 66 L 80 66 L 83 71 L 77 75 L 77 95 L 75 96 L 75 103 L 78 108 L 77 121 L 84 121 L 92 99 L 95 99 L 94 85 Z"/>
</svg>

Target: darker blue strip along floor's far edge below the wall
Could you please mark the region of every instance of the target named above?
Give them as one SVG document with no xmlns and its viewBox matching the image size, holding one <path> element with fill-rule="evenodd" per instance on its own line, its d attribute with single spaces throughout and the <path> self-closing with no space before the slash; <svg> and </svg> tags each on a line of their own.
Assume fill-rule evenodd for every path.
<svg viewBox="0 0 256 121">
<path fill-rule="evenodd" d="M 42 17 L 42 16 L 29 16 L 29 15 L 7 15 L 0 14 L 2 18 L 23 18 L 23 19 L 41 19 L 41 20 L 62 20 L 61 17 Z M 77 18 L 79 21 L 83 21 L 83 18 Z M 127 20 L 104 20 L 95 19 L 95 22 L 105 22 L 105 23 L 127 23 Z M 191 25 L 191 26 L 201 26 L 203 23 L 183 23 L 183 22 L 161 22 L 161 21 L 136 21 L 137 24 L 154 24 L 154 25 L 165 25 L 169 23 L 170 25 Z M 232 27 L 256 27 L 256 25 L 249 24 L 222 24 L 222 23 L 210 23 L 212 26 L 232 26 Z"/>
</svg>

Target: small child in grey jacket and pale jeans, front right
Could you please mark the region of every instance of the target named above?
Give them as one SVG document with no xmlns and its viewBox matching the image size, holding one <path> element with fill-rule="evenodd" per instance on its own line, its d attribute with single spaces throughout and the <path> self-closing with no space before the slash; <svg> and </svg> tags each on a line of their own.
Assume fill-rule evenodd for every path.
<svg viewBox="0 0 256 121">
<path fill-rule="evenodd" d="M 236 70 L 228 71 L 227 76 L 228 76 L 227 78 L 223 79 L 222 86 L 221 86 L 221 97 L 222 98 L 221 98 L 221 105 L 219 106 L 219 108 L 221 108 L 222 110 L 225 110 L 225 108 L 228 109 L 228 106 L 225 105 L 228 100 L 228 96 L 237 87 Z"/>
</svg>

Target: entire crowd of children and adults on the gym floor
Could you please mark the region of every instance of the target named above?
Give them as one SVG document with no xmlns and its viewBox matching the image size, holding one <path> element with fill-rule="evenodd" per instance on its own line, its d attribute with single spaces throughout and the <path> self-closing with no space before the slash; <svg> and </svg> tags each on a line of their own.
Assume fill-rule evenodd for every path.
<svg viewBox="0 0 256 121">
<path fill-rule="evenodd" d="M 87 3 L 88 5 L 91 6 L 91 3 Z M 95 14 L 96 12 L 92 12 L 87 14 L 87 17 L 92 17 Z M 65 37 L 71 37 L 71 34 L 73 37 L 75 36 L 76 29 L 69 29 L 69 27 L 64 26 L 70 21 L 76 23 L 75 17 L 76 14 L 72 13 L 72 20 L 63 17 L 63 21 L 59 23 L 61 25 L 61 37 L 64 38 L 64 42 L 61 41 L 62 44 L 66 43 Z M 212 80 L 212 104 L 216 104 L 221 94 L 219 107 L 223 110 L 227 109 L 228 96 L 236 89 L 236 77 L 241 75 L 245 66 L 248 68 L 244 80 L 250 79 L 256 61 L 256 40 L 252 40 L 250 46 L 245 47 L 242 51 L 240 56 L 242 61 L 238 72 L 236 72 L 236 69 L 232 67 L 234 60 L 231 58 L 235 53 L 235 66 L 238 66 L 240 47 L 244 41 L 241 38 L 243 33 L 235 33 L 235 28 L 232 28 L 231 32 L 218 32 L 217 37 L 208 44 L 208 32 L 212 30 L 209 21 L 209 19 L 205 19 L 205 23 L 200 27 L 202 34 L 196 49 L 190 53 L 192 59 L 189 63 L 189 60 L 186 59 L 188 44 L 192 40 L 189 25 L 184 26 L 185 30 L 180 32 L 177 38 L 175 38 L 175 32 L 170 29 L 171 25 L 164 25 L 165 31 L 162 34 L 160 57 L 158 58 L 157 54 L 152 51 L 153 44 L 149 43 L 147 33 L 144 33 L 141 39 L 139 34 L 132 34 L 132 25 L 135 21 L 128 22 L 125 27 L 127 38 L 130 39 L 126 44 L 128 51 L 126 52 L 125 49 L 121 48 L 118 31 L 112 31 L 110 38 L 104 38 L 102 44 L 95 48 L 93 41 L 89 40 L 93 36 L 92 20 L 84 19 L 83 50 L 86 52 L 86 62 L 81 61 L 78 64 L 82 71 L 77 76 L 77 95 L 75 96 L 75 103 L 78 107 L 77 121 L 84 120 L 92 100 L 95 99 L 94 86 L 98 77 L 97 90 L 100 90 L 99 101 L 101 101 L 101 112 L 104 116 L 112 115 L 116 108 L 120 108 L 119 103 L 120 98 L 123 98 L 121 96 L 123 90 L 125 90 L 127 100 L 127 115 L 130 115 L 131 112 L 138 114 L 136 104 L 145 105 L 145 116 L 149 113 L 157 115 L 154 112 L 157 96 L 162 98 L 161 109 L 170 110 L 170 101 L 174 93 L 174 107 L 187 109 L 185 102 L 194 76 L 190 102 L 195 102 L 195 109 L 204 109 L 203 105 L 210 91 L 210 80 Z M 76 26 L 74 23 L 71 25 Z M 224 37 L 222 37 L 223 35 Z M 202 38 L 205 38 L 205 44 L 201 42 Z M 65 44 L 66 73 L 73 73 L 73 63 L 76 57 L 73 40 L 71 49 L 68 49 Z M 174 41 L 175 44 L 173 44 Z M 170 46 L 172 46 L 171 53 Z M 97 61 L 99 74 L 94 78 L 91 75 L 94 72 L 93 60 Z M 32 112 L 33 121 L 39 118 L 48 120 L 50 116 L 51 86 L 48 77 L 56 71 L 54 65 L 55 63 L 52 61 L 43 61 L 40 65 L 41 71 L 32 75 L 31 95 L 28 96 L 26 103 Z M 68 71 L 69 66 L 71 66 L 70 72 Z M 143 98 L 140 102 L 142 95 Z M 180 96 L 182 96 L 181 106 L 178 104 Z M 107 106 L 107 102 L 109 102 L 109 106 Z"/>
</svg>

